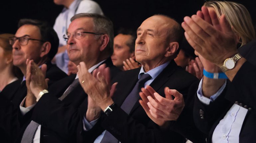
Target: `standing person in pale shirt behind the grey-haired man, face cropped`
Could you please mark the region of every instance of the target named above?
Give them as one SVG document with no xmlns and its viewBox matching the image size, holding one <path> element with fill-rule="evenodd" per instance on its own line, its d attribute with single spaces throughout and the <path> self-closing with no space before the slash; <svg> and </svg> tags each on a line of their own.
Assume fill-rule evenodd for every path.
<svg viewBox="0 0 256 143">
<path fill-rule="evenodd" d="M 63 35 L 66 34 L 67 28 L 71 23 L 70 18 L 79 13 L 95 13 L 103 15 L 100 6 L 92 0 L 54 0 L 57 5 L 63 5 L 64 8 L 55 20 L 54 30 L 57 32 L 60 39 L 59 49 L 53 63 L 68 73 L 69 58 L 66 47 L 67 41 L 64 40 Z"/>
</svg>

